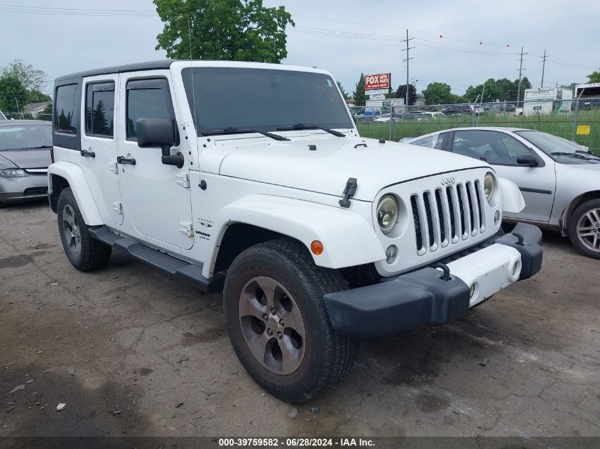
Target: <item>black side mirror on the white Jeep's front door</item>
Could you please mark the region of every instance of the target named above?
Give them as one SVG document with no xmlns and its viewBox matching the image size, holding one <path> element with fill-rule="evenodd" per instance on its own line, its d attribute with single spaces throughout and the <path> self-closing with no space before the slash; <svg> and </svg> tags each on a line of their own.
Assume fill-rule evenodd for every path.
<svg viewBox="0 0 600 449">
<path fill-rule="evenodd" d="M 175 126 L 168 118 L 138 118 L 136 120 L 138 147 L 160 147 L 163 155 L 160 157 L 164 165 L 175 165 L 182 168 L 185 158 L 180 151 L 170 154 L 170 148 L 175 145 Z"/>
</svg>

